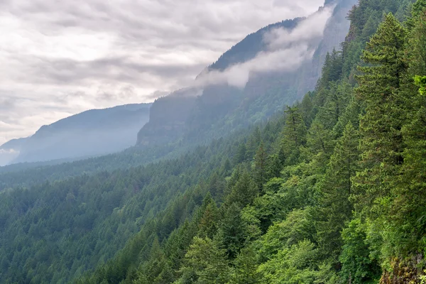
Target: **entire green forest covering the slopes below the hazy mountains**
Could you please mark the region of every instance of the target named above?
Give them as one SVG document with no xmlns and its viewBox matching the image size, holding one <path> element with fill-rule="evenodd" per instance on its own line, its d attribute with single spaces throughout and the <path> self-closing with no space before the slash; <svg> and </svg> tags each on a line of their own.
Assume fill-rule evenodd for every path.
<svg viewBox="0 0 426 284">
<path fill-rule="evenodd" d="M 2 173 L 0 283 L 426 283 L 426 0 L 348 18 L 268 121 L 148 165 Z"/>
</svg>

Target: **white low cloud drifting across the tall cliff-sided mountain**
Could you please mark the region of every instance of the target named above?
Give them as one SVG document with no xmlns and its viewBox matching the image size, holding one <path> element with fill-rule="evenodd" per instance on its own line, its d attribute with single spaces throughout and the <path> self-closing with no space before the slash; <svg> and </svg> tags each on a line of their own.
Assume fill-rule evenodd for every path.
<svg viewBox="0 0 426 284">
<path fill-rule="evenodd" d="M 195 85 L 229 84 L 244 88 L 250 76 L 272 71 L 290 71 L 312 58 L 334 7 L 327 7 L 302 20 L 292 30 L 275 28 L 265 33 L 263 41 L 268 50 L 255 58 L 233 65 L 224 71 L 211 70 L 197 78 Z"/>
</svg>

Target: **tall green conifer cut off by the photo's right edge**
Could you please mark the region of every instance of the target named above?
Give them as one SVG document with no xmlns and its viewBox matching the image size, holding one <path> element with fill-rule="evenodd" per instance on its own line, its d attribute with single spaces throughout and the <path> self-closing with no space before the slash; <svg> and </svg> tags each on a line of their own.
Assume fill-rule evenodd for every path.
<svg viewBox="0 0 426 284">
<path fill-rule="evenodd" d="M 413 13 L 407 50 L 409 77 L 426 74 L 426 14 L 416 17 L 416 11 Z M 415 91 L 409 84 L 406 87 L 407 93 L 415 95 L 408 97 L 412 109 L 403 127 L 404 164 L 398 186 L 393 189 L 395 198 L 388 216 L 392 234 L 386 240 L 389 251 L 398 255 L 421 253 L 426 239 L 426 77 L 415 76 Z"/>
</svg>

